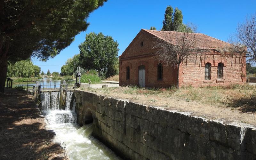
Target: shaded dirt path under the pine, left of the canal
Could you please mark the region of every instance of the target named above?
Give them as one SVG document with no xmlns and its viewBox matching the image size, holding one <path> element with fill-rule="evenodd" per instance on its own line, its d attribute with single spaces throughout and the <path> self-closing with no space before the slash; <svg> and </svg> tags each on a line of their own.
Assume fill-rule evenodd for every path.
<svg viewBox="0 0 256 160">
<path fill-rule="evenodd" d="M 0 93 L 0 159 L 67 159 L 55 133 L 45 128 L 45 118 L 33 96 L 6 89 Z"/>
</svg>

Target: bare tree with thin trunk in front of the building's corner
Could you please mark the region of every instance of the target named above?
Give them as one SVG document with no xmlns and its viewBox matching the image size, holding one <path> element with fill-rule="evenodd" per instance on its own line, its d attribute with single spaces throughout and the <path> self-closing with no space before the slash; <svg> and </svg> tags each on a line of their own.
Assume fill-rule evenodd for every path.
<svg viewBox="0 0 256 160">
<path fill-rule="evenodd" d="M 177 68 L 177 84 L 179 88 L 179 69 L 183 60 L 187 60 L 189 55 L 199 51 L 197 46 L 196 27 L 185 26 L 184 32 L 164 31 L 163 38 L 157 38 L 154 48 L 154 56 L 167 66 Z M 191 33 L 193 29 L 193 33 Z"/>
</svg>

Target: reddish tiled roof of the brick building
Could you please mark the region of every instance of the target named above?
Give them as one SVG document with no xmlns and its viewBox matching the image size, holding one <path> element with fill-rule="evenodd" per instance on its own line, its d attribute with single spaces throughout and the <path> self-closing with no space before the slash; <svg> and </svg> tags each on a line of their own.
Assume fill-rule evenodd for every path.
<svg viewBox="0 0 256 160">
<path fill-rule="evenodd" d="M 176 44 L 176 41 L 177 41 L 176 38 L 184 34 L 182 32 L 175 32 L 175 31 L 156 31 L 156 30 L 147 30 L 147 29 L 142 29 L 142 30 L 174 45 Z M 188 34 L 189 34 L 188 37 L 191 36 L 191 38 L 194 37 L 195 35 L 194 33 L 188 33 Z M 221 41 L 211 36 L 207 36 L 202 33 L 196 33 L 195 38 L 196 38 L 196 47 L 201 49 L 218 49 L 218 48 L 225 48 L 231 45 L 227 42 Z"/>
</svg>

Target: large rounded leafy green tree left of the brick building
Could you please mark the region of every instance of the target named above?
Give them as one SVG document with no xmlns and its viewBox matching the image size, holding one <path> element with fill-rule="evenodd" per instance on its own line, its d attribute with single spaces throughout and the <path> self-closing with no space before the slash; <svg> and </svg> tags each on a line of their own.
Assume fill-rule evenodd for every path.
<svg viewBox="0 0 256 160">
<path fill-rule="evenodd" d="M 84 69 L 96 69 L 98 75 L 101 72 L 106 77 L 113 75 L 111 71 L 116 65 L 118 55 L 118 43 L 111 36 L 105 36 L 101 32 L 89 33 L 85 41 L 79 45 L 81 67 Z M 115 74 L 114 74 L 115 75 Z"/>
</svg>

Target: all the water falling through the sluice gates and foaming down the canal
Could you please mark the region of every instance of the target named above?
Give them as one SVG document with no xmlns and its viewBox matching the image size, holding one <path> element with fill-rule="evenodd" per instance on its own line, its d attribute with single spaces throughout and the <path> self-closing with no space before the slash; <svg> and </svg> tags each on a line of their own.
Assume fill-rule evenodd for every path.
<svg viewBox="0 0 256 160">
<path fill-rule="evenodd" d="M 66 104 L 66 110 L 59 109 L 58 93 L 42 92 L 41 94 L 41 109 L 48 122 L 46 127 L 56 133 L 54 141 L 65 147 L 69 159 L 121 159 L 111 149 L 92 136 L 92 124 L 80 127 L 76 123 L 76 102 L 73 92 L 68 93 L 67 102 L 69 104 Z"/>
</svg>

